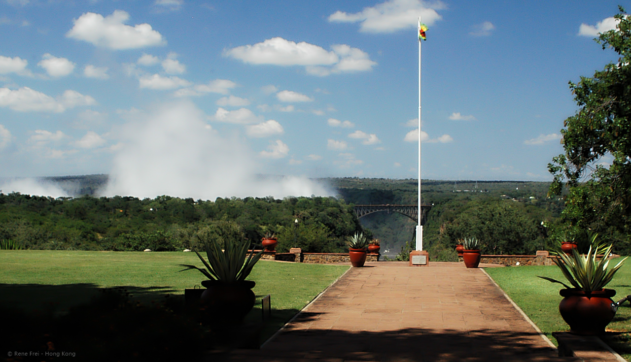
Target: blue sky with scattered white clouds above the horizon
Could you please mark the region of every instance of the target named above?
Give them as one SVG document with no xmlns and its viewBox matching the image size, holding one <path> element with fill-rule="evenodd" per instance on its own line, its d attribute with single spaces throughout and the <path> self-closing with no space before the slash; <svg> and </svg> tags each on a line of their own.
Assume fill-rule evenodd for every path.
<svg viewBox="0 0 631 362">
<path fill-rule="evenodd" d="M 422 177 L 550 180 L 618 4 L 1 0 L 0 177 L 415 178 L 422 16 Z"/>
</svg>

